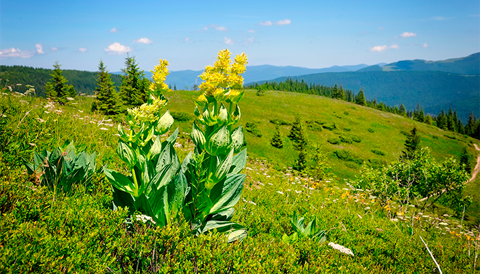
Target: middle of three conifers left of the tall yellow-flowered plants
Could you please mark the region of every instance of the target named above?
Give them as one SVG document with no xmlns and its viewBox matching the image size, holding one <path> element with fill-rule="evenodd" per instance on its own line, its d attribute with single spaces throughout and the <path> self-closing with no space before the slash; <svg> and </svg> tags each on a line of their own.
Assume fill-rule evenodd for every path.
<svg viewBox="0 0 480 274">
<path fill-rule="evenodd" d="M 95 107 L 105 115 L 119 114 L 119 105 L 117 99 L 117 88 L 115 88 L 110 74 L 104 66 L 104 61 L 100 60 L 97 72 L 97 88 L 95 88 Z"/>
</svg>

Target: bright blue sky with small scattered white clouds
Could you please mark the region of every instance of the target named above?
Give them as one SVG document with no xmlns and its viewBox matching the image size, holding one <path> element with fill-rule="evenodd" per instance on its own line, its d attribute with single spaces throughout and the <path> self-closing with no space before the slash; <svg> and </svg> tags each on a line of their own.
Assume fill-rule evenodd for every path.
<svg viewBox="0 0 480 274">
<path fill-rule="evenodd" d="M 7 1 L 0 64 L 119 71 L 202 70 L 217 52 L 249 65 L 445 60 L 480 51 L 480 1 Z"/>
</svg>

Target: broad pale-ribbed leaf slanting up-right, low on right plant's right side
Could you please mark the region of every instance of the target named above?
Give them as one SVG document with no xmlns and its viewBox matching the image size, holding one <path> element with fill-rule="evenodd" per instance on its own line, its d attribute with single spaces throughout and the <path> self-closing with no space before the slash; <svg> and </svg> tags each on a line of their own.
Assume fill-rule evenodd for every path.
<svg viewBox="0 0 480 274">
<path fill-rule="evenodd" d="M 243 182 L 245 182 L 245 174 L 227 175 L 225 182 L 221 188 L 221 192 L 211 192 L 213 206 L 210 213 L 217 213 L 231 208 L 239 201 Z M 214 188 L 215 189 L 215 188 Z"/>
</svg>

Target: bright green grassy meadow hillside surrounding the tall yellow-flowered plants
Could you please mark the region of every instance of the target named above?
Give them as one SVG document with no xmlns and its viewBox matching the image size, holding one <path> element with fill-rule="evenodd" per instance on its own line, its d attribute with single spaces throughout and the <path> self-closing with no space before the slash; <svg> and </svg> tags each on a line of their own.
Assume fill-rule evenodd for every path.
<svg viewBox="0 0 480 274">
<path fill-rule="evenodd" d="M 185 120 L 176 121 L 180 132 L 190 132 L 192 121 L 186 120 L 193 113 L 195 95 L 191 91 L 166 95 L 173 116 Z M 193 237 L 181 221 L 163 228 L 141 221 L 125 223 L 125 210 L 111 210 L 111 186 L 101 172 L 91 185 L 77 186 L 69 194 L 49 191 L 29 178 L 22 158 L 31 159 L 34 151 L 51 150 L 67 138 L 89 153 L 96 151 L 97 167 L 108 164 L 124 173 L 115 153 L 120 121 L 93 114 L 90 106 L 91 98 L 85 97 L 62 107 L 44 99 L 0 95 L 0 272 L 433 273 L 436 266 L 420 236 L 444 273 L 480 271 L 476 230 L 459 227 L 460 221 L 442 209 L 422 212 L 396 203 L 386 209 L 368 192 L 351 188 L 359 164 L 331 156 L 335 149 L 348 149 L 365 162 L 371 158 L 390 162 L 403 149 L 401 132 L 414 125 L 422 145 L 431 147 L 439 159 L 457 157 L 462 147 L 479 144 L 478 140 L 343 101 L 289 92 L 259 97 L 248 90 L 240 105 L 241 123 L 256 123 L 262 136 L 246 133 L 247 179 L 233 221 L 249 234 L 243 242 L 227 244 L 221 234 Z M 304 123 L 318 121 L 310 123 L 315 130 L 309 129 L 309 140 L 322 145 L 337 179 L 311 188 L 311 179 L 292 174 L 288 166 L 296 153 L 285 138 L 288 125 L 281 126 L 285 147 L 268 145 L 274 129 L 269 120 L 291 123 L 295 116 Z M 180 158 L 193 147 L 185 133 L 176 144 Z M 360 142 L 326 142 L 340 135 L 355 136 Z M 306 223 L 316 216 L 326 242 L 282 240 L 283 234 L 293 233 L 289 220 L 293 212 L 306 217 Z M 340 253 L 328 242 L 355 256 Z"/>
</svg>

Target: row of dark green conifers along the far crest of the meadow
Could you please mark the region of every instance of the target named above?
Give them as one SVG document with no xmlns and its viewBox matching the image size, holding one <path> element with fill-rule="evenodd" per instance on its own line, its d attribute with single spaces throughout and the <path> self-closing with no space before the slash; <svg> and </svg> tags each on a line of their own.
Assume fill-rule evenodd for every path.
<svg viewBox="0 0 480 274">
<path fill-rule="evenodd" d="M 457 132 L 459 134 L 465 134 L 473 138 L 480 139 L 480 119 L 477 119 L 473 112 L 470 112 L 468 121 L 466 125 L 464 125 L 458 118 L 457 111 L 452 110 L 452 108 L 450 108 L 448 112 L 442 110 L 442 112 L 435 116 L 425 114 L 420 104 L 417 104 L 415 110 L 413 111 L 407 110 L 403 103 L 401 103 L 400 106 L 394 105 L 392 107 L 383 102 L 378 102 L 376 99 L 366 100 L 363 89 L 360 89 L 359 92 L 355 93 L 352 90 L 344 89 L 342 85 L 338 86 L 335 84 L 333 87 L 323 86 L 321 84 L 307 83 L 303 79 L 298 81 L 298 79 L 293 80 L 291 78 L 287 78 L 285 82 L 264 82 L 262 84 L 254 83 L 245 86 L 245 88 L 260 90 L 261 92 L 265 92 L 265 90 L 300 92 L 339 99 L 348 101 L 350 103 L 357 103 L 358 105 L 364 105 L 369 108 L 375 108 L 377 110 L 402 115 L 422 123 L 427 123 L 428 125 L 435 125 L 440 129 Z"/>
</svg>

